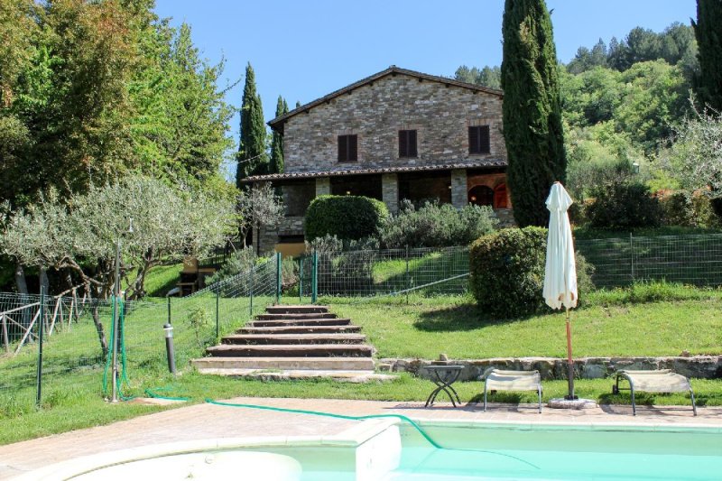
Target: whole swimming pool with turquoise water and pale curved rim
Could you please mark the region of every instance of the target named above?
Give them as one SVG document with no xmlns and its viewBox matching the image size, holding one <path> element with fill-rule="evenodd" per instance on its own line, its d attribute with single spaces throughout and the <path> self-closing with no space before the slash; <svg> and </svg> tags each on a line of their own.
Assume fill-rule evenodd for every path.
<svg viewBox="0 0 722 481">
<path fill-rule="evenodd" d="M 225 439 L 157 452 L 134 449 L 26 479 L 712 480 L 722 478 L 722 429 L 374 420 L 326 438 Z M 143 453 L 141 455 L 141 453 Z M 94 457 L 97 458 L 97 457 Z M 171 468 L 172 467 L 172 468 Z"/>
</svg>

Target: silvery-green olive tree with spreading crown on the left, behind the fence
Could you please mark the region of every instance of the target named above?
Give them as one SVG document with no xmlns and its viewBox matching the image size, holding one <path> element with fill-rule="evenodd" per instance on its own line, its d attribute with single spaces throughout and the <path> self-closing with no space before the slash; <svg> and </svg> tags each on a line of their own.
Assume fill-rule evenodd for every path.
<svg viewBox="0 0 722 481">
<path fill-rule="evenodd" d="M 232 199 L 131 176 L 63 202 L 50 193 L 30 208 L 5 210 L 0 252 L 25 266 L 69 269 L 90 297 L 106 299 L 115 286 L 116 248 L 131 299 L 144 295 L 153 265 L 200 256 L 223 245 L 235 226 Z M 132 226 L 132 228 L 131 228 Z M 93 312 L 106 352 L 102 324 Z"/>
</svg>

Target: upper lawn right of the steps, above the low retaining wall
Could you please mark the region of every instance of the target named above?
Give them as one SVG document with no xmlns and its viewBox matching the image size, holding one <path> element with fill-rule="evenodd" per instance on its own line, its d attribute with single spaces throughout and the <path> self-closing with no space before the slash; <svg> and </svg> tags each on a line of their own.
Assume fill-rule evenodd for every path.
<svg viewBox="0 0 722 481">
<path fill-rule="evenodd" d="M 330 300 L 321 300 L 330 301 Z M 722 296 L 708 291 L 701 299 L 618 303 L 597 296 L 587 308 L 573 310 L 574 355 L 679 356 L 722 353 Z M 564 314 L 525 319 L 486 319 L 465 296 L 403 298 L 334 303 L 340 317 L 353 319 L 378 350 L 379 357 L 483 358 L 566 356 Z"/>
</svg>

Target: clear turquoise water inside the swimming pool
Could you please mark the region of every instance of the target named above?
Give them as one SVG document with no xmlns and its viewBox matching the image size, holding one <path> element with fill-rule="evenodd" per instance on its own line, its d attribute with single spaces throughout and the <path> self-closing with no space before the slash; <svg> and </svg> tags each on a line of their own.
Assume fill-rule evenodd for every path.
<svg viewBox="0 0 722 481">
<path fill-rule="evenodd" d="M 435 449 L 408 425 L 398 465 L 373 481 L 472 479 L 720 480 L 722 430 L 570 428 L 425 424 L 445 449 Z M 302 449 L 303 481 L 361 479 L 332 451 Z M 326 461 L 324 461 L 326 459 Z"/>
</svg>

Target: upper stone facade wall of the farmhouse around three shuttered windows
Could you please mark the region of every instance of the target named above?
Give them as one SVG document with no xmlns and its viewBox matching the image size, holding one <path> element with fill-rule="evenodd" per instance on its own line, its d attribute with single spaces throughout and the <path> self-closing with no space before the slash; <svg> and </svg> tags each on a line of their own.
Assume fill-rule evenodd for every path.
<svg viewBox="0 0 722 481">
<path fill-rule="evenodd" d="M 468 127 L 489 125 L 491 152 L 468 153 Z M 286 172 L 506 159 L 502 99 L 470 88 L 388 75 L 292 116 L 283 126 Z M 399 158 L 398 131 L 417 130 L 417 158 Z M 338 163 L 338 135 L 358 135 L 358 162 Z"/>
</svg>

